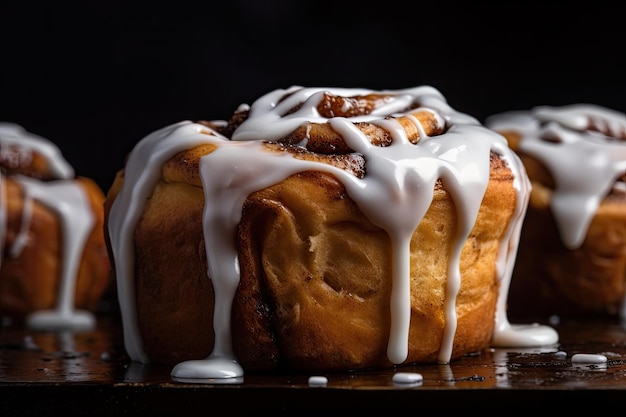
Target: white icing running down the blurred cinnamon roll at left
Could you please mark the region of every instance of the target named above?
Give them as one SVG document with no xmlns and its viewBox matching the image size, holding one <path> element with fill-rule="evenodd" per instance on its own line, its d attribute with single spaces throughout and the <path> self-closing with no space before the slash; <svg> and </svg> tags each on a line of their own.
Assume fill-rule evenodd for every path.
<svg viewBox="0 0 626 417">
<path fill-rule="evenodd" d="M 20 126 L 0 123 L 0 158 L 6 163 L 28 163 L 33 152 L 44 156 L 55 180 L 40 181 L 23 175 L 3 178 L 0 175 L 0 245 L 5 244 L 7 231 L 6 184 L 16 181 L 24 194 L 20 231 L 9 256 L 17 258 L 32 236 L 29 234 L 35 201 L 54 211 L 61 226 L 61 260 L 59 293 L 53 310 L 42 310 L 27 317 L 27 325 L 40 330 L 82 330 L 92 328 L 95 318 L 90 312 L 74 309 L 76 278 L 84 247 L 95 225 L 95 216 L 85 190 L 72 178 L 74 171 L 56 145 L 30 134 Z M 12 165 L 13 167 L 17 165 Z M 1 259 L 0 259 L 1 261 Z M 0 262 L 1 266 L 1 262 Z"/>
</svg>

